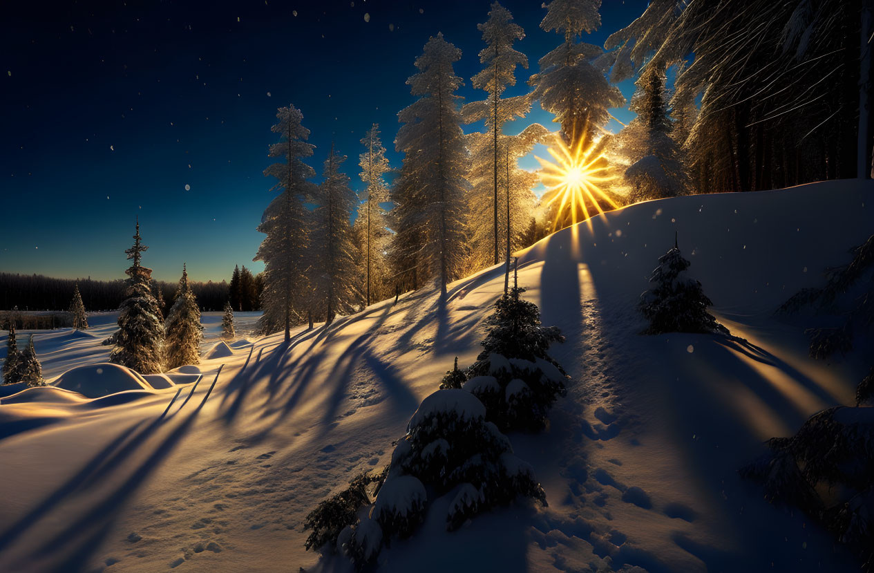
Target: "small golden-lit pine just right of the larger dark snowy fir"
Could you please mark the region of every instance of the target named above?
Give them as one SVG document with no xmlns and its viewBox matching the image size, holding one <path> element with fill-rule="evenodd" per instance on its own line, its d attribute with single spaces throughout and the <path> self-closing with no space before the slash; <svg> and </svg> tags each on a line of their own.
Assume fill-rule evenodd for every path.
<svg viewBox="0 0 874 573">
<path fill-rule="evenodd" d="M 176 302 L 167 315 L 166 329 L 167 369 L 200 362 L 200 341 L 204 339 L 204 326 L 200 324 L 198 300 L 188 282 L 188 270 L 182 265 L 182 278 Z"/>
</svg>

